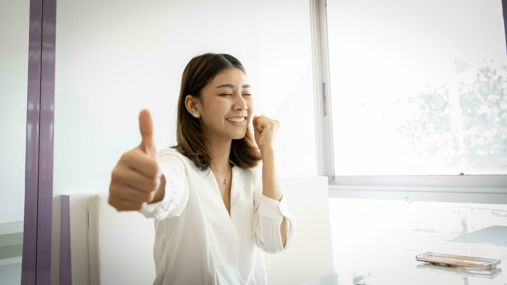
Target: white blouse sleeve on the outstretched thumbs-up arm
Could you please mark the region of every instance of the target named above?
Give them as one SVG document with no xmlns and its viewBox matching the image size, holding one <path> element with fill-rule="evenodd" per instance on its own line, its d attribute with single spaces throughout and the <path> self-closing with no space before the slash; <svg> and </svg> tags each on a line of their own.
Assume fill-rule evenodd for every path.
<svg viewBox="0 0 507 285">
<path fill-rule="evenodd" d="M 148 203 L 138 212 L 147 218 L 165 219 L 177 217 L 187 205 L 189 185 L 183 161 L 162 149 L 158 152 L 159 167 L 165 177 L 164 198 Z"/>
</svg>

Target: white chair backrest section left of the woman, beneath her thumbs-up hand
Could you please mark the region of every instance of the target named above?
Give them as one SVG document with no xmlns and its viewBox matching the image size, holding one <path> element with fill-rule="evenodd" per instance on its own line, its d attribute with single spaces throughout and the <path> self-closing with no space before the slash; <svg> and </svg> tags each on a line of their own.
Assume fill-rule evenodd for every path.
<svg viewBox="0 0 507 285">
<path fill-rule="evenodd" d="M 153 284 L 154 220 L 136 211 L 118 212 L 108 196 L 88 199 L 90 285 Z"/>
</svg>

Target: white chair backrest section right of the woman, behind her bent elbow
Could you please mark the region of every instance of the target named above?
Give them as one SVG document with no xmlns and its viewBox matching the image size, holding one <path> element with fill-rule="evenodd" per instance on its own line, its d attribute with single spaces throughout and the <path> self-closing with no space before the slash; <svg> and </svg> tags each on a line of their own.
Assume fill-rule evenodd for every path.
<svg viewBox="0 0 507 285">
<path fill-rule="evenodd" d="M 292 285 L 335 273 L 328 177 L 280 181 L 296 233 L 286 251 L 264 253 L 268 284 Z"/>
</svg>

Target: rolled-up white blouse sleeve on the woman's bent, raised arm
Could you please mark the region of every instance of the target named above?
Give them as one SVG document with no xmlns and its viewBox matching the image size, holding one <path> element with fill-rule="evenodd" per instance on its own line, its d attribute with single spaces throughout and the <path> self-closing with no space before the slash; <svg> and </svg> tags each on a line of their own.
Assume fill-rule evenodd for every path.
<svg viewBox="0 0 507 285">
<path fill-rule="evenodd" d="M 296 232 L 296 218 L 288 213 L 285 194 L 280 201 L 271 199 L 262 193 L 262 179 L 253 191 L 253 230 L 252 238 L 261 250 L 275 254 L 291 245 Z M 287 219 L 287 241 L 283 248 L 280 226 L 283 218 Z"/>
</svg>

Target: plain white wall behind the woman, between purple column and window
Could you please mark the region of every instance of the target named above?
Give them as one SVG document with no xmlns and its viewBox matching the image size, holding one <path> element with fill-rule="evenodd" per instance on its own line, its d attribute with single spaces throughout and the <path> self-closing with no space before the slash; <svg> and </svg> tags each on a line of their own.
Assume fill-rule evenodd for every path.
<svg viewBox="0 0 507 285">
<path fill-rule="evenodd" d="M 143 108 L 157 147 L 174 144 L 183 69 L 208 51 L 236 56 L 256 113 L 280 121 L 280 178 L 316 175 L 308 1 L 57 5 L 54 195 L 108 191 Z"/>
</svg>

